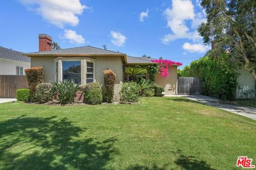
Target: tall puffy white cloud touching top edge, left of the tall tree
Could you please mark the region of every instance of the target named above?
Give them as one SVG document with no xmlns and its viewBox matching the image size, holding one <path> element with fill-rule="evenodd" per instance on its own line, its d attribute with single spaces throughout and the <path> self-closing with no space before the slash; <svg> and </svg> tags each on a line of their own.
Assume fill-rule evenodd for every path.
<svg viewBox="0 0 256 170">
<path fill-rule="evenodd" d="M 190 39 L 194 42 L 202 41 L 197 33 L 198 25 L 205 21 L 202 12 L 195 13 L 194 5 L 190 0 L 172 0 L 172 8 L 166 8 L 164 15 L 167 19 L 167 27 L 172 33 L 164 35 L 162 43 L 169 44 L 176 39 Z M 186 21 L 191 21 L 191 28 Z"/>
</svg>

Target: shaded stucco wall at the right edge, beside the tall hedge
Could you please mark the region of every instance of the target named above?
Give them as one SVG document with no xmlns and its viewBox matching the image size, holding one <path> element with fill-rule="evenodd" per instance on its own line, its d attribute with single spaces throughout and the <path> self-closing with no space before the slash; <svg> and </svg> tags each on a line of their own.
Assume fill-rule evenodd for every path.
<svg viewBox="0 0 256 170">
<path fill-rule="evenodd" d="M 251 89 L 255 90 L 255 79 L 245 69 L 239 69 L 237 72 L 241 75 L 237 78 L 238 88 L 236 90 L 236 98 L 245 98 L 243 92 Z"/>
</svg>

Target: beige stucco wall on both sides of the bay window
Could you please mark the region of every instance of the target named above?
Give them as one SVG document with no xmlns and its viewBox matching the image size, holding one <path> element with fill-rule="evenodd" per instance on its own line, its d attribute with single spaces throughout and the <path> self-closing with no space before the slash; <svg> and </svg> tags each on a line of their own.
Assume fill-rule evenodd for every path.
<svg viewBox="0 0 256 170">
<path fill-rule="evenodd" d="M 57 56 L 35 56 L 31 57 L 31 67 L 43 66 L 44 67 L 44 82 L 54 81 L 54 59 Z M 70 57 L 67 57 L 70 58 Z M 77 58 L 77 57 L 76 57 Z M 123 62 L 119 56 L 93 56 L 86 58 L 95 59 L 95 80 L 100 82 L 103 90 L 103 97 L 105 97 L 105 85 L 103 81 L 103 70 L 111 69 L 116 75 L 114 100 L 119 101 L 119 91 L 121 89 L 121 83 L 123 79 Z"/>
</svg>

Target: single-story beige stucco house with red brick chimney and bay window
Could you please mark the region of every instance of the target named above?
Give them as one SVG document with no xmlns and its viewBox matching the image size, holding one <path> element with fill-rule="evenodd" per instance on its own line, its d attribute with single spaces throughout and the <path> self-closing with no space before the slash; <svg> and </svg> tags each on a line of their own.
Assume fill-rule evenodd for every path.
<svg viewBox="0 0 256 170">
<path fill-rule="evenodd" d="M 31 57 L 31 67 L 44 67 L 44 82 L 72 79 L 82 85 L 90 82 L 100 82 L 103 96 L 105 86 L 103 70 L 111 69 L 116 75 L 114 100 L 119 100 L 119 91 L 123 82 L 130 81 L 124 67 L 135 65 L 155 64 L 149 57 L 132 57 L 124 53 L 100 49 L 91 46 L 52 50 L 52 37 L 39 35 L 39 52 L 23 54 Z M 156 83 L 165 88 L 167 95 L 176 94 L 177 66 L 169 69 L 169 77 L 155 75 Z M 140 75 L 148 79 L 148 75 Z"/>
</svg>

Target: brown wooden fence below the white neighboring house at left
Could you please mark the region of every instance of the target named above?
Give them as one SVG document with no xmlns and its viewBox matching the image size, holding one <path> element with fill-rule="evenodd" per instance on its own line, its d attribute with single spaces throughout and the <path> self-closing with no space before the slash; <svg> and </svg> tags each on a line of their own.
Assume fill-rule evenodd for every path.
<svg viewBox="0 0 256 170">
<path fill-rule="evenodd" d="M 0 98 L 16 98 L 16 90 L 26 88 L 26 75 L 0 75 Z"/>
</svg>

